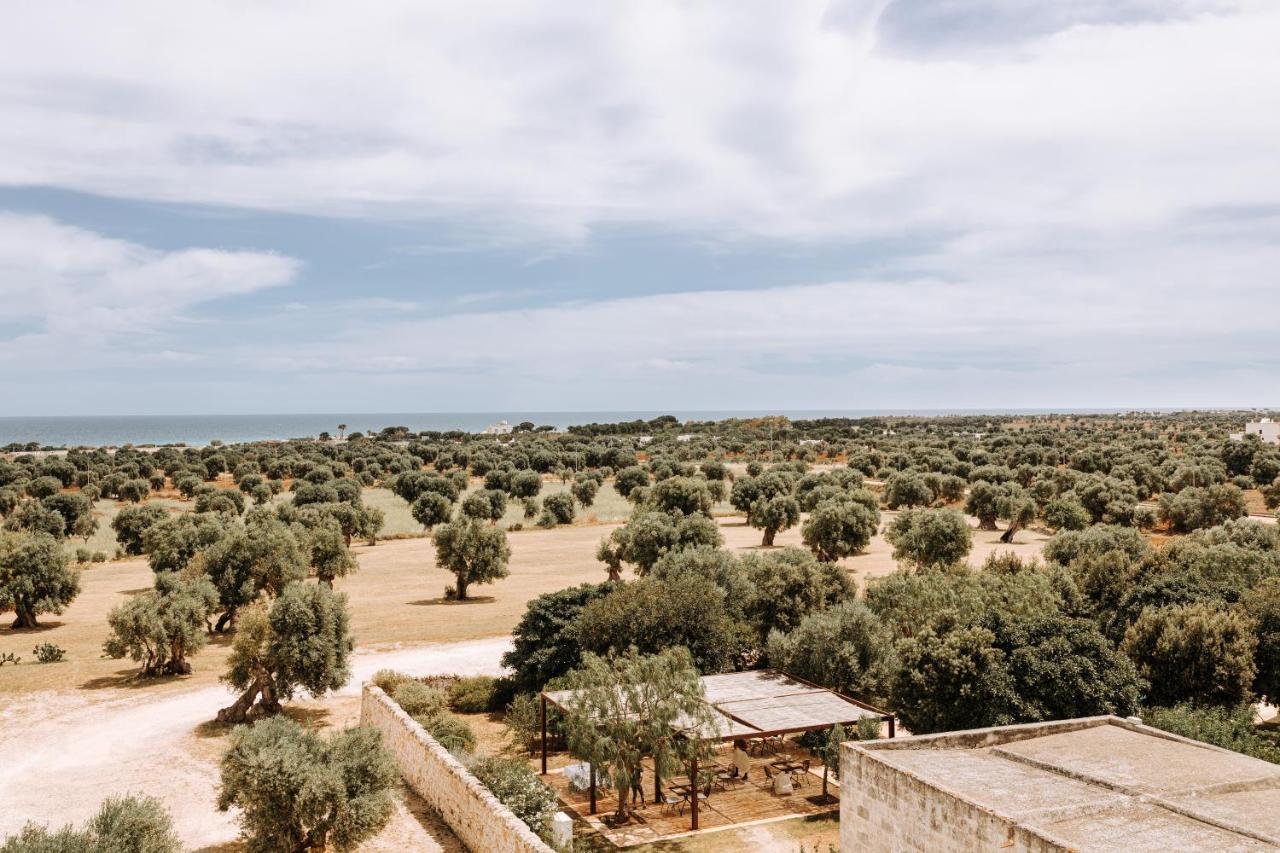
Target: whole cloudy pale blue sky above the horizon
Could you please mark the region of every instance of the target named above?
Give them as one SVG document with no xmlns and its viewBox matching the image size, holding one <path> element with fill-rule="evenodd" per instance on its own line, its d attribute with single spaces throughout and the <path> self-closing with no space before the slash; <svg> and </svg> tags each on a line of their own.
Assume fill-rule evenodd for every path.
<svg viewBox="0 0 1280 853">
<path fill-rule="evenodd" d="M 1275 0 L 0 14 L 0 415 L 1280 403 Z"/>
</svg>

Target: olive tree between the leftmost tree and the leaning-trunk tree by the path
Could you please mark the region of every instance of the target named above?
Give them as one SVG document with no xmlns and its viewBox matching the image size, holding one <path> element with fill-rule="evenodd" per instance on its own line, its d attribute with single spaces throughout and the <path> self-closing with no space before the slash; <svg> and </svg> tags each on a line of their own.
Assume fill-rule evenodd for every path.
<svg viewBox="0 0 1280 853">
<path fill-rule="evenodd" d="M 205 620 L 218 608 L 218 590 L 207 578 L 169 573 L 156 588 L 133 596 L 108 613 L 108 657 L 142 663 L 142 675 L 187 675 L 187 658 L 205 646 Z"/>
</svg>

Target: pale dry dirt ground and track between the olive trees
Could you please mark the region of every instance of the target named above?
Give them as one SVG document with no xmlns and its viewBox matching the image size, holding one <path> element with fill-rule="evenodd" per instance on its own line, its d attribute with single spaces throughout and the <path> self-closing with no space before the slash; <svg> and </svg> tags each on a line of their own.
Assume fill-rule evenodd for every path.
<svg viewBox="0 0 1280 853">
<path fill-rule="evenodd" d="M 884 521 L 891 516 L 884 514 Z M 759 548 L 760 533 L 741 519 L 719 523 L 727 547 Z M 472 603 L 443 602 L 451 576 L 435 567 L 429 539 L 357 548 L 360 571 L 338 583 L 351 598 L 360 646 L 355 675 L 337 695 L 294 703 L 293 716 L 319 726 L 353 725 L 360 683 L 383 667 L 422 675 L 498 672 L 507 637 L 530 598 L 605 576 L 594 552 L 612 526 L 512 533 L 511 576 L 475 588 Z M 974 532 L 974 565 L 997 548 L 1038 555 L 1047 538 L 1021 532 L 1016 544 L 1000 546 L 998 535 Z M 781 533 L 777 543 L 799 546 L 799 528 Z M 844 565 L 864 583 L 893 570 L 890 551 L 877 535 L 867 553 Z M 0 652 L 28 658 L 0 667 L 0 836 L 27 820 L 79 822 L 104 797 L 132 790 L 160 797 L 188 847 L 209 853 L 238 849 L 234 820 L 214 808 L 225 731 L 209 724 L 232 699 L 218 683 L 227 642 L 193 658 L 196 672 L 184 679 L 140 681 L 132 678 L 132 662 L 100 657 L 106 612 L 150 585 L 145 560 L 97 566 L 84 573 L 79 598 L 61 616 L 46 617 L 45 628 L 0 629 Z M 31 647 L 46 640 L 65 648 L 68 661 L 29 662 Z M 749 827 L 708 835 L 682 849 L 780 849 L 831 834 L 829 827 L 813 829 L 815 834 L 805 836 L 804 824 Z M 420 800 L 402 793 L 396 820 L 365 849 L 457 849 L 457 843 Z"/>
</svg>

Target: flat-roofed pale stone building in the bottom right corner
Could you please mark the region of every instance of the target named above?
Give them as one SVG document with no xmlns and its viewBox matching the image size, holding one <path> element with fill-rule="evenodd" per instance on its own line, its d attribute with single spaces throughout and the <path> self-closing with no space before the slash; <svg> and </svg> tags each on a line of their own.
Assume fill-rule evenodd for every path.
<svg viewBox="0 0 1280 853">
<path fill-rule="evenodd" d="M 1119 717 L 846 743 L 840 783 L 846 853 L 1280 849 L 1280 766 Z"/>
</svg>

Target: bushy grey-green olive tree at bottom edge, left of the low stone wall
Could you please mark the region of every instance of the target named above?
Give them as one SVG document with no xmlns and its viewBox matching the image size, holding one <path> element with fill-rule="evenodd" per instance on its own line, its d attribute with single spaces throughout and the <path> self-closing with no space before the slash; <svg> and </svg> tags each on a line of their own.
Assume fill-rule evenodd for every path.
<svg viewBox="0 0 1280 853">
<path fill-rule="evenodd" d="M 390 820 L 396 781 L 375 729 L 321 738 L 276 717 L 232 733 L 218 808 L 239 807 L 248 853 L 355 850 Z"/>
</svg>

